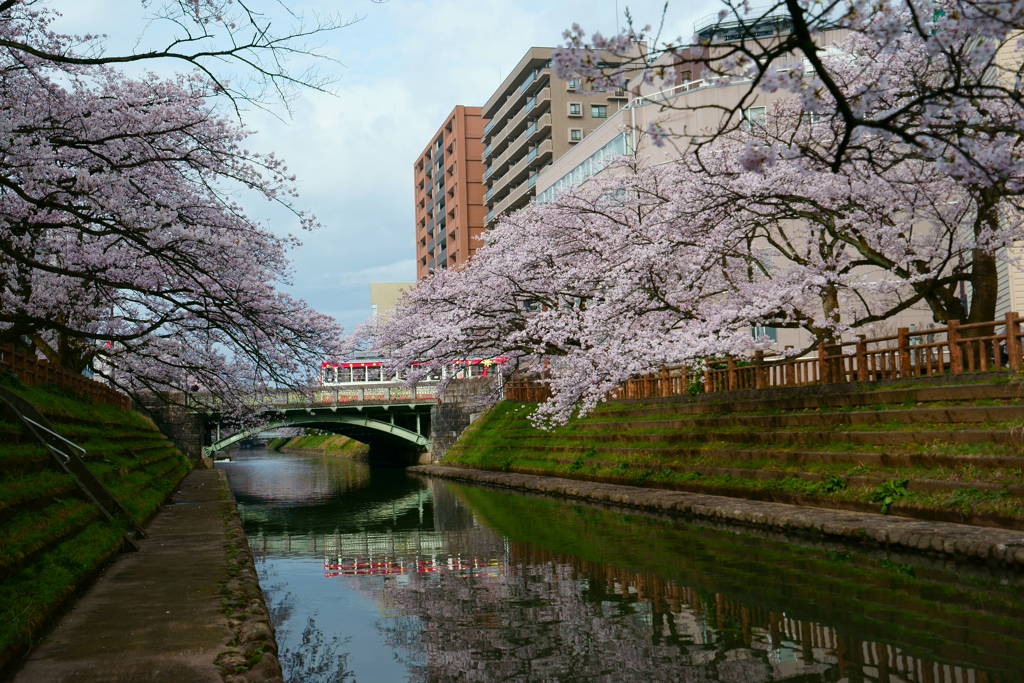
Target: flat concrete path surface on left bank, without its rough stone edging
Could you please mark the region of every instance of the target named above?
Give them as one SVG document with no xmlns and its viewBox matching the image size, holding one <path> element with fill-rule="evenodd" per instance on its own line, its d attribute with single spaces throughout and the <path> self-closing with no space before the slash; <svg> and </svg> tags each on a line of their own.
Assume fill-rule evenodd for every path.
<svg viewBox="0 0 1024 683">
<path fill-rule="evenodd" d="M 234 638 L 221 607 L 232 514 L 219 471 L 188 474 L 139 551 L 103 571 L 14 681 L 220 683 L 214 659 Z"/>
</svg>

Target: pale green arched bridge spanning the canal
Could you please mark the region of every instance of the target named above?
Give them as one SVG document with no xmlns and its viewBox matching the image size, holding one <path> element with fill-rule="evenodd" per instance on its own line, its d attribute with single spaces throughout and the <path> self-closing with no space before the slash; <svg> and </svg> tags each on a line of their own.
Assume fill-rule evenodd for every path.
<svg viewBox="0 0 1024 683">
<path fill-rule="evenodd" d="M 310 394 L 278 391 L 260 397 L 263 419 L 222 434 L 216 425 L 207 456 L 260 432 L 307 427 L 343 434 L 370 444 L 371 453 L 414 454 L 430 447 L 430 409 L 437 402 L 436 383 L 404 387 L 393 382 L 358 387 L 316 389 Z M 216 417 L 209 416 L 213 421 Z"/>
</svg>

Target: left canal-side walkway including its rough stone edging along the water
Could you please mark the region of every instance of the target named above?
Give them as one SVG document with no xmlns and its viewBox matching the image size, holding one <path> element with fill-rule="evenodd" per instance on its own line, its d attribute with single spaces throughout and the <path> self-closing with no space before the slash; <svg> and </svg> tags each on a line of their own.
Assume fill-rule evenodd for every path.
<svg viewBox="0 0 1024 683">
<path fill-rule="evenodd" d="M 35 681 L 280 681 L 269 616 L 223 474 L 182 481 L 17 672 Z"/>
</svg>

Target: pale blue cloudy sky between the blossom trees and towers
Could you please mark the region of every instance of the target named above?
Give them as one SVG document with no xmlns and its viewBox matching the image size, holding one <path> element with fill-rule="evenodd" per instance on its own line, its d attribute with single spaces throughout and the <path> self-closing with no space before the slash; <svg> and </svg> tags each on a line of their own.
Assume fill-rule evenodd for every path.
<svg viewBox="0 0 1024 683">
<path fill-rule="evenodd" d="M 627 6 L 642 26 L 655 24 L 664 5 L 664 0 L 282 2 L 307 19 L 358 18 L 316 44 L 338 62 L 319 66 L 321 75 L 334 81 L 333 94 L 297 93 L 291 116 L 281 111 L 245 116 L 256 131 L 251 144 L 288 161 L 298 176 L 300 205 L 323 224 L 301 236 L 291 289 L 349 330 L 369 315 L 370 283 L 416 276 L 413 161 L 452 108 L 482 104 L 528 47 L 558 45 L 573 22 L 588 33 L 608 34 L 624 23 Z M 61 30 L 104 33 L 111 51 L 151 44 L 160 31 L 137 2 L 49 4 L 65 13 Z M 159 4 L 154 0 L 150 7 Z M 673 0 L 666 37 L 688 37 L 694 20 L 717 7 L 717 0 Z M 280 31 L 288 20 L 278 19 Z M 295 227 L 266 206 L 249 208 L 275 230 Z"/>
</svg>

